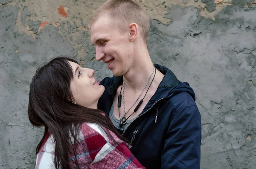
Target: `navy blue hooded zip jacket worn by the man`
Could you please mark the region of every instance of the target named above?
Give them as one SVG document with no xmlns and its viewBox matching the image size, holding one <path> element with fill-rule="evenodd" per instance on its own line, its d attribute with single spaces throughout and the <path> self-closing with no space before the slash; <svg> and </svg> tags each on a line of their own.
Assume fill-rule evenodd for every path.
<svg viewBox="0 0 256 169">
<path fill-rule="evenodd" d="M 165 76 L 123 136 L 132 140 L 131 152 L 147 169 L 200 169 L 201 115 L 195 93 L 171 70 L 155 67 Z M 98 108 L 107 114 L 122 80 L 113 76 L 101 81 L 105 92 Z"/>
</svg>

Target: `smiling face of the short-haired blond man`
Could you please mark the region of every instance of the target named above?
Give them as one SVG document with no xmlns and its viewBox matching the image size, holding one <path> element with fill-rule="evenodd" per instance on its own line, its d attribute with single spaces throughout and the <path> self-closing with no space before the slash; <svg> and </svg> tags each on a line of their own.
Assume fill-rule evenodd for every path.
<svg viewBox="0 0 256 169">
<path fill-rule="evenodd" d="M 96 48 L 96 60 L 103 60 L 115 76 L 125 74 L 133 60 L 128 27 L 127 31 L 120 33 L 114 20 L 105 15 L 93 23 L 90 33 Z"/>
</svg>

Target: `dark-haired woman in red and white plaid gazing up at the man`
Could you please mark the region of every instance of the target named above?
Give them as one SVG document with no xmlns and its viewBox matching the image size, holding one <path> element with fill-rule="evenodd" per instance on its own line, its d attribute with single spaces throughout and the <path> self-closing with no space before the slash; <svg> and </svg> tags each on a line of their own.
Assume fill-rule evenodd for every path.
<svg viewBox="0 0 256 169">
<path fill-rule="evenodd" d="M 30 84 L 29 120 L 44 126 L 36 169 L 144 168 L 109 117 L 97 109 L 104 86 L 68 57 L 38 69 Z"/>
</svg>

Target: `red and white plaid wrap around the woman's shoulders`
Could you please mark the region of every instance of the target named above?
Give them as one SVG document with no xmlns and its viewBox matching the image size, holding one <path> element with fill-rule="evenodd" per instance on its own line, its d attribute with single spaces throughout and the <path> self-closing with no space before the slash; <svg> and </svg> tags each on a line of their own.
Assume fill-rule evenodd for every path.
<svg viewBox="0 0 256 169">
<path fill-rule="evenodd" d="M 113 138 L 119 143 L 115 145 L 104 132 L 102 127 L 83 123 L 79 130 L 79 142 L 76 144 L 76 158 L 80 169 L 145 169 L 132 155 L 127 144 L 120 140 L 113 132 Z M 47 135 L 36 160 L 36 169 L 54 169 L 55 143 L 52 135 Z M 70 149 L 73 145 L 70 143 Z M 77 169 L 73 160 L 74 154 L 69 155 L 70 166 Z"/>
</svg>

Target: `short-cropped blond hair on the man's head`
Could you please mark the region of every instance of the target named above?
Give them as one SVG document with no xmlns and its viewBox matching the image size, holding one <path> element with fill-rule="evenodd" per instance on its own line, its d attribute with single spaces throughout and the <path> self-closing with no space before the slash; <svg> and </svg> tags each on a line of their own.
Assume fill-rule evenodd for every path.
<svg viewBox="0 0 256 169">
<path fill-rule="evenodd" d="M 103 14 L 108 14 L 116 21 L 120 32 L 125 32 L 131 23 L 137 23 L 145 42 L 148 38 L 149 18 L 144 9 L 134 0 L 108 0 L 103 3 L 90 19 L 90 26 Z"/>
</svg>

